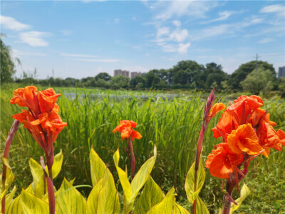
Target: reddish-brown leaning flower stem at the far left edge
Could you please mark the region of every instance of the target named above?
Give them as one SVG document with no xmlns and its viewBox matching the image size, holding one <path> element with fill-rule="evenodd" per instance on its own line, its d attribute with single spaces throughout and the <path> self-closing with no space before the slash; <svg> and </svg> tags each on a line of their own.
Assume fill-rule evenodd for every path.
<svg viewBox="0 0 285 214">
<path fill-rule="evenodd" d="M 10 151 L 10 146 L 13 140 L 13 137 L 16 133 L 16 131 L 18 130 L 19 127 L 19 121 L 15 120 L 13 125 L 11 126 L 10 132 L 9 132 L 9 136 L 6 140 L 5 143 L 5 148 L 4 148 L 4 158 L 9 157 L 9 151 Z M 4 193 L 5 191 L 5 183 L 6 183 L 6 173 L 7 173 L 7 166 L 3 163 L 3 170 L 2 170 L 2 193 Z M 5 213 L 5 203 L 6 203 L 6 196 L 4 195 L 2 198 L 2 213 Z"/>
</svg>

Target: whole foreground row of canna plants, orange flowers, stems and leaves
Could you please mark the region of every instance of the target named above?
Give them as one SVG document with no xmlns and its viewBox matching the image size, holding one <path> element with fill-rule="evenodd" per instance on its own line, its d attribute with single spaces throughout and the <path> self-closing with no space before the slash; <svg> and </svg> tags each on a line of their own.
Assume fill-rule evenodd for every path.
<svg viewBox="0 0 285 214">
<path fill-rule="evenodd" d="M 58 96 L 60 94 L 56 94 L 53 88 L 38 91 L 35 86 L 27 86 L 14 91 L 14 97 L 11 98 L 10 103 L 27 109 L 12 116 L 16 123 L 14 122 L 11 128 L 4 150 L 5 163 L 1 175 L 1 213 L 120 213 L 118 186 L 116 187 L 115 180 L 108 167 L 93 149 L 90 151 L 90 172 L 93 184 L 90 187 L 93 189 L 87 200 L 73 187 L 73 181 L 63 180 L 61 188 L 57 191 L 53 186 L 53 178 L 61 170 L 63 160 L 62 153 L 54 156 L 53 143 L 56 141 L 58 134 L 67 126 L 67 123 L 63 122 L 58 115 L 59 107 L 56 104 Z M 192 204 L 192 214 L 209 213 L 207 206 L 199 198 L 199 191 L 204 184 L 205 178 L 201 158 L 202 141 L 209 121 L 219 111 L 226 108 L 223 103 L 213 105 L 214 99 L 213 89 L 204 106 L 195 163 L 192 164 L 185 179 L 185 191 L 187 199 Z M 239 182 L 247 175 L 250 161 L 261 154 L 268 157 L 271 148 L 281 151 L 282 145 L 285 146 L 284 131 L 274 130 L 273 126 L 276 126 L 276 123 L 270 121 L 270 114 L 260 108 L 263 105 L 264 102 L 259 96 L 240 96 L 226 108 L 217 125 L 212 128 L 214 138 L 221 137 L 222 143 L 214 146 L 212 153 L 209 153 L 205 167 L 209 169 L 211 175 L 223 179 L 222 188 L 224 188 L 224 179 L 227 178 L 222 210 L 219 213 L 232 213 L 239 207 L 241 201 L 237 205 L 232 198 L 232 190 L 235 186 L 239 190 Z M 46 172 L 45 163 L 43 157 L 41 157 L 39 170 L 42 171 L 38 175 L 42 174 L 45 181 L 40 179 L 41 176 L 38 176 L 36 180 L 34 179 L 33 185 L 30 185 L 35 190 L 31 190 L 30 187 L 22 190 L 21 195 L 14 199 L 13 203 L 11 203 L 11 198 L 14 195 L 9 195 L 9 197 L 7 196 L 9 202 L 6 203 L 6 191 L 11 185 L 11 181 L 14 180 L 12 178 L 8 182 L 6 181 L 6 177 L 9 178 L 11 175 L 11 173 L 8 173 L 9 175 L 6 176 L 7 167 L 9 168 L 8 153 L 19 122 L 24 123 L 24 128 L 31 133 L 31 136 L 43 149 L 46 155 L 48 172 Z M 137 125 L 135 121 L 123 120 L 113 129 L 113 133 L 119 132 L 122 140 L 126 142 L 127 146 L 124 149 L 130 161 L 131 174 L 129 179 L 128 170 L 119 167 L 119 150 L 113 156 L 115 168 L 123 188 L 123 213 L 189 213 L 176 203 L 174 187 L 165 195 L 159 185 L 155 183 L 155 180 L 152 179 L 150 173 L 157 157 L 156 147 L 154 147 L 154 156 L 148 159 L 137 170 L 137 173 L 135 172 L 133 141 L 142 138 L 142 135 L 135 130 Z M 33 177 L 36 176 L 35 172 L 38 171 L 37 164 L 34 160 L 30 162 L 30 167 L 34 165 L 34 169 L 31 169 Z M 56 165 L 56 170 L 53 169 L 53 165 Z M 56 172 L 54 175 L 53 170 Z M 40 183 L 39 180 L 43 182 Z M 137 200 L 136 197 L 142 187 L 144 188 Z M 41 196 L 39 190 L 43 190 Z M 31 195 L 28 195 L 30 193 Z M 46 196 L 48 196 L 48 199 Z M 237 205 L 237 207 L 234 208 L 231 203 Z M 8 205 L 7 212 L 5 212 L 6 204 Z"/>
</svg>

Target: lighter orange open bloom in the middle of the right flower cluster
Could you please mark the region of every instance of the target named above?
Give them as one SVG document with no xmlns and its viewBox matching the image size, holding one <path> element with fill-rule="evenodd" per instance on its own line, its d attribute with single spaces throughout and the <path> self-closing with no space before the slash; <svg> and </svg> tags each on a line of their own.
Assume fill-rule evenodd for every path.
<svg viewBox="0 0 285 214">
<path fill-rule="evenodd" d="M 227 143 L 234 153 L 246 152 L 249 155 L 256 155 L 263 150 L 259 145 L 259 138 L 252 128 L 252 124 L 247 123 L 239 126 L 227 136 Z"/>
</svg>

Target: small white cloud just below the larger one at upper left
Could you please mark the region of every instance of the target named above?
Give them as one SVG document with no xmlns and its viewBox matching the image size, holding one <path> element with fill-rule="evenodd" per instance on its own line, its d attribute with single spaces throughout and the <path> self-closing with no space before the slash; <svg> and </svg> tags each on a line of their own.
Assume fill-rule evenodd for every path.
<svg viewBox="0 0 285 214">
<path fill-rule="evenodd" d="M 19 35 L 19 38 L 21 39 L 20 42 L 24 42 L 26 44 L 29 44 L 33 47 L 43 47 L 48 46 L 48 42 L 44 41 L 42 37 L 49 36 L 49 33 L 45 32 L 38 32 L 38 31 L 28 31 L 21 33 Z"/>
</svg>

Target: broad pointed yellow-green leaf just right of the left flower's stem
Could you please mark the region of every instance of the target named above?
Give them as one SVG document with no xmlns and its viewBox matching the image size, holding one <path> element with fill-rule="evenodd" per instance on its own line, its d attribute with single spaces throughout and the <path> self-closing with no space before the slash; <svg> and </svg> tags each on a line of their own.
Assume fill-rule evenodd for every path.
<svg viewBox="0 0 285 214">
<path fill-rule="evenodd" d="M 73 185 L 64 178 L 61 188 L 56 195 L 56 203 L 58 204 L 58 214 L 79 214 L 84 213 L 86 208 L 86 200 L 83 195 L 73 188 Z"/>
</svg>

